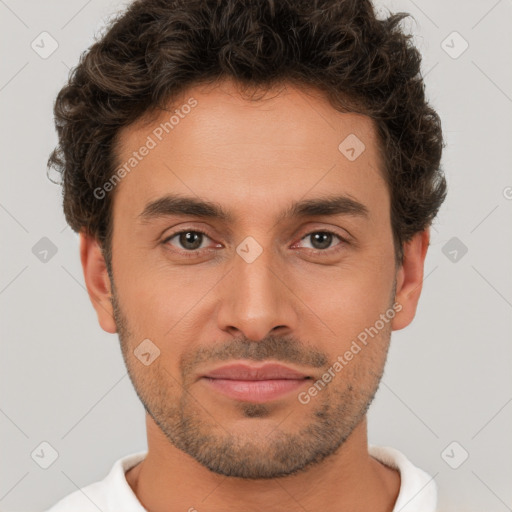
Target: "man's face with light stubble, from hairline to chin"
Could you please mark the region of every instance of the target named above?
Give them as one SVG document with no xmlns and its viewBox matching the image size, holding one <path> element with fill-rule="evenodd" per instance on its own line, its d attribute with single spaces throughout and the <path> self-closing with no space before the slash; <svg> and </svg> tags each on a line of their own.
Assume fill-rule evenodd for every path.
<svg viewBox="0 0 512 512">
<path fill-rule="evenodd" d="M 180 110 L 191 97 L 197 104 Z M 220 474 L 292 474 L 333 454 L 361 423 L 386 358 L 391 322 L 381 315 L 394 313 L 396 273 L 375 131 L 293 87 L 251 103 L 225 82 L 190 89 L 174 109 L 181 116 L 169 133 L 157 128 L 172 111 L 120 139 L 119 166 L 153 146 L 148 136 L 155 142 L 115 190 L 123 356 L 176 447 Z M 215 203 L 229 219 L 148 208 L 166 195 Z M 295 202 L 339 196 L 366 215 L 286 215 Z M 205 377 L 234 363 L 279 363 L 303 377 Z"/>
</svg>

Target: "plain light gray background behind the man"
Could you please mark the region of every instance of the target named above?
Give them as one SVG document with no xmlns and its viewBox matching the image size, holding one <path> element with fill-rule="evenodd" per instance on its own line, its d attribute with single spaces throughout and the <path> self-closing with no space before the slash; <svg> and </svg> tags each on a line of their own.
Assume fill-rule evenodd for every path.
<svg viewBox="0 0 512 512">
<path fill-rule="evenodd" d="M 43 510 L 146 448 L 117 336 L 96 321 L 78 238 L 66 227 L 60 187 L 46 176 L 55 95 L 125 3 L 0 0 L 4 511 Z M 432 230 L 416 319 L 393 333 L 370 442 L 402 450 L 429 472 L 443 511 L 512 510 L 512 2 L 377 5 L 416 20 L 407 26 L 443 121 L 449 195 Z M 31 48 L 43 31 L 59 45 L 46 59 Z M 453 31 L 469 43 L 458 58 L 442 47 L 462 48 L 458 36 L 446 39 Z M 43 237 L 57 248 L 46 262 L 32 252 Z M 447 243 L 467 253 L 456 248 L 452 261 Z M 43 441 L 59 454 L 48 469 L 31 458 Z M 446 461 L 459 464 L 464 451 L 469 458 L 452 469 Z"/>
</svg>

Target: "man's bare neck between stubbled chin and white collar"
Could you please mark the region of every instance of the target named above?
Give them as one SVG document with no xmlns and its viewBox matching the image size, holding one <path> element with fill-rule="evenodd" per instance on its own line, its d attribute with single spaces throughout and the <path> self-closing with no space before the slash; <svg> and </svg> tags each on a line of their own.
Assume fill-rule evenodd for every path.
<svg viewBox="0 0 512 512">
<path fill-rule="evenodd" d="M 295 475 L 264 480 L 213 473 L 169 443 L 149 415 L 146 425 L 148 454 L 126 473 L 126 480 L 150 512 L 391 512 L 398 496 L 398 472 L 368 454 L 366 418 L 322 462 Z"/>
</svg>

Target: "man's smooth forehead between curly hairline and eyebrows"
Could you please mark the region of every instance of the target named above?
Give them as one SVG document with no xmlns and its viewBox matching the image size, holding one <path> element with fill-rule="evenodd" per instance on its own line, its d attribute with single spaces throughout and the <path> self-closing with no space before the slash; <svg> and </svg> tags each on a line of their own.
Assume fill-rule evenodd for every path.
<svg viewBox="0 0 512 512">
<path fill-rule="evenodd" d="M 165 193 L 244 214 L 334 189 L 370 211 L 389 207 L 372 120 L 336 111 L 313 89 L 288 84 L 250 100 L 229 81 L 196 86 L 149 121 L 119 134 L 118 166 L 136 160 L 115 189 L 114 209 L 125 215 Z"/>
</svg>

